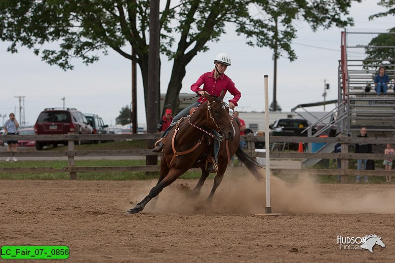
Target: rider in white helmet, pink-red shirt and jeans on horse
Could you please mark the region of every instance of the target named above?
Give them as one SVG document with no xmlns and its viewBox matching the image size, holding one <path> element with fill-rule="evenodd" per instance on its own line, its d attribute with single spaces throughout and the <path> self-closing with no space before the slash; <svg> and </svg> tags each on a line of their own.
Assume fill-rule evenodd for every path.
<svg viewBox="0 0 395 263">
<path fill-rule="evenodd" d="M 196 83 L 192 84 L 191 86 L 191 90 L 196 92 L 201 97 L 197 100 L 196 103 L 185 108 L 173 118 L 170 127 L 168 127 L 164 131 L 162 138 L 160 138 L 160 140 L 155 144 L 156 147 L 154 148 L 153 151 L 159 152 L 163 149 L 163 143 L 161 142 L 163 138 L 169 133 L 172 126 L 174 126 L 179 119 L 187 116 L 192 108 L 197 107 L 203 100 L 205 100 L 204 92 L 207 92 L 210 95 L 219 96 L 222 90 L 225 90 L 225 92 L 229 91 L 234 96 L 232 100 L 229 100 L 229 108 L 231 108 L 232 110 L 235 109 L 235 106 L 237 106 L 237 101 L 241 97 L 241 93 L 240 91 L 237 90 L 235 83 L 232 81 L 232 79 L 230 79 L 230 77 L 224 74 L 226 69 L 229 66 L 231 66 L 230 56 L 225 53 L 218 54 L 214 59 L 214 65 L 215 65 L 215 69 L 213 71 L 206 72 L 203 75 L 201 75 L 197 79 Z M 202 84 L 204 85 L 203 88 L 201 89 L 200 86 Z M 213 131 L 213 133 L 218 137 L 218 133 L 216 131 Z M 214 140 L 213 146 L 214 146 L 214 158 L 215 158 L 215 162 L 217 162 L 219 141 Z M 209 169 L 210 168 L 212 167 L 209 167 Z"/>
</svg>

